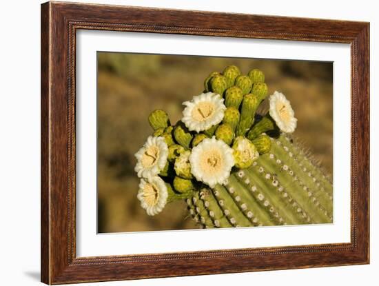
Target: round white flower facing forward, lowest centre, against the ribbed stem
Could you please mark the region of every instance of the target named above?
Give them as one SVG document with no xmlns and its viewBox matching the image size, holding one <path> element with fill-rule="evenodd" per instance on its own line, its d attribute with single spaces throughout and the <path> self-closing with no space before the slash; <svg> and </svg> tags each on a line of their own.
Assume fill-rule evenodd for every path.
<svg viewBox="0 0 379 286">
<path fill-rule="evenodd" d="M 209 187 L 223 184 L 234 166 L 233 150 L 224 141 L 204 139 L 198 143 L 189 156 L 191 172 L 197 181 Z"/>
</svg>

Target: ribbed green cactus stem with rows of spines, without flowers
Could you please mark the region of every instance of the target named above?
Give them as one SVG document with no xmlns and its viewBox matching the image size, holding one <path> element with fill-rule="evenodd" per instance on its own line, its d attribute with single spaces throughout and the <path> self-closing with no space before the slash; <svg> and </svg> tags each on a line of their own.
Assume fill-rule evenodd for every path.
<svg viewBox="0 0 379 286">
<path fill-rule="evenodd" d="M 187 206 L 199 225 L 252 227 L 332 223 L 332 185 L 286 135 L 227 184 L 198 187 Z"/>
</svg>

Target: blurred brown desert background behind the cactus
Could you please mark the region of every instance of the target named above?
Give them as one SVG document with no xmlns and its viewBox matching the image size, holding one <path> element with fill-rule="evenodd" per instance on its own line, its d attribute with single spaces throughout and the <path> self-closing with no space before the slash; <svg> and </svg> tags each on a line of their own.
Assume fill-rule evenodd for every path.
<svg viewBox="0 0 379 286">
<path fill-rule="evenodd" d="M 291 101 L 294 132 L 327 173 L 333 172 L 333 65 L 312 61 L 238 59 L 98 52 L 98 232 L 141 232 L 198 228 L 181 201 L 147 216 L 136 198 L 139 178 L 134 154 L 152 129 L 147 116 L 165 110 L 176 123 L 181 103 L 203 92 L 210 72 L 237 65 L 265 73 L 269 94 Z"/>
</svg>

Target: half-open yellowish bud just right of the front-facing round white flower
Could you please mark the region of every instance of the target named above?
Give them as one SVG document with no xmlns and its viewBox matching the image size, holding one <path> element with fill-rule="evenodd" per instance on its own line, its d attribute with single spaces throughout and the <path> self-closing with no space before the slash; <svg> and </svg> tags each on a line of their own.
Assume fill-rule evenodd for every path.
<svg viewBox="0 0 379 286">
<path fill-rule="evenodd" d="M 259 153 L 256 147 L 243 136 L 238 136 L 233 143 L 233 156 L 235 166 L 240 169 L 250 167 L 252 163 L 258 159 Z"/>
</svg>

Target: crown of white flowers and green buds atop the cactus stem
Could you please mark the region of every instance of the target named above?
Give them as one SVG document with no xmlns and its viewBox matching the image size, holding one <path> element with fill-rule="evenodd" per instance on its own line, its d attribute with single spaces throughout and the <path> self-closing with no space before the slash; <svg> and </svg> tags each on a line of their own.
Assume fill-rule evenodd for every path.
<svg viewBox="0 0 379 286">
<path fill-rule="evenodd" d="M 270 132 L 296 128 L 294 111 L 280 92 L 269 96 L 269 113 L 256 115 L 268 94 L 260 70 L 243 75 L 230 65 L 209 74 L 204 88 L 183 103 L 183 118 L 175 125 L 163 110 L 149 116 L 154 132 L 136 153 L 135 167 L 141 178 L 138 198 L 147 214 L 192 196 L 202 185 L 222 185 L 232 170 L 249 168 L 269 152 Z"/>
</svg>

